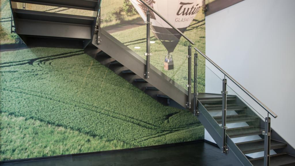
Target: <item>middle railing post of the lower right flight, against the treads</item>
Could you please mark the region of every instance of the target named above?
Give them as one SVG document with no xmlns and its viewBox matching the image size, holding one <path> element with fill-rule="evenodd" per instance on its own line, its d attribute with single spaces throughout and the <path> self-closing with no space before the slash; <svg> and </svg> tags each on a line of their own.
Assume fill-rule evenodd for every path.
<svg viewBox="0 0 295 166">
<path fill-rule="evenodd" d="M 227 96 L 227 91 L 226 91 L 226 85 L 227 85 L 227 80 L 223 79 L 222 80 L 222 153 L 227 153 L 228 149 L 226 146 L 226 96 Z"/>
</svg>

